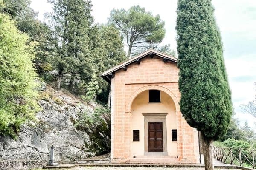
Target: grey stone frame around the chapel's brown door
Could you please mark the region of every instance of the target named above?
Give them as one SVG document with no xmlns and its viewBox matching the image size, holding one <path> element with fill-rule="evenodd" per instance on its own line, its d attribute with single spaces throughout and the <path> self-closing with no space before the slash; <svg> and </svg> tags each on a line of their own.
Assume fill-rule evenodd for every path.
<svg viewBox="0 0 256 170">
<path fill-rule="evenodd" d="M 168 113 L 142 113 L 144 116 L 144 155 L 168 155 L 166 115 Z M 148 152 L 148 122 L 163 122 L 163 152 Z"/>
</svg>

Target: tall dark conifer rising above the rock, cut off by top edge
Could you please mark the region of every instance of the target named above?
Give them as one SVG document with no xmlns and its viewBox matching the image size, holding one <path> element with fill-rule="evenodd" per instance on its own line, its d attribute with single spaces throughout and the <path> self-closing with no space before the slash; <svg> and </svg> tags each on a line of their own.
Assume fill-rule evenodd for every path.
<svg viewBox="0 0 256 170">
<path fill-rule="evenodd" d="M 93 69 L 91 59 L 90 31 L 93 23 L 91 2 L 85 0 L 48 0 L 53 4 L 50 17 L 52 37 L 49 62 L 57 70 L 57 88 L 65 74 L 70 74 L 69 88 L 73 88 L 76 77 L 90 80 Z"/>
</svg>

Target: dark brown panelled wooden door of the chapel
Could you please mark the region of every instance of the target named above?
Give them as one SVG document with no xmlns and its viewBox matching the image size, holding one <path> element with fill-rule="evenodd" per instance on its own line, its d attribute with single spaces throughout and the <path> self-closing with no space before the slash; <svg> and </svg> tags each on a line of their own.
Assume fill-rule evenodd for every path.
<svg viewBox="0 0 256 170">
<path fill-rule="evenodd" d="M 162 122 L 148 122 L 148 152 L 163 152 Z"/>
</svg>

